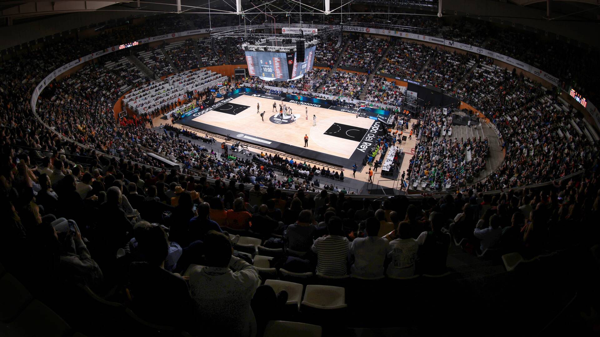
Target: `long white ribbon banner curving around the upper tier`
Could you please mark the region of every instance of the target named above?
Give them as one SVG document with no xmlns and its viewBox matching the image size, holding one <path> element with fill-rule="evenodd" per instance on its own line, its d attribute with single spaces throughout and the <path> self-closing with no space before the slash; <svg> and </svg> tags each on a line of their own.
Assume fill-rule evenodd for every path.
<svg viewBox="0 0 600 337">
<path fill-rule="evenodd" d="M 249 28 L 249 29 L 250 28 L 259 28 L 260 26 L 261 25 L 253 25 L 253 26 L 248 26 L 247 28 Z M 269 25 L 269 27 L 272 27 L 272 26 L 273 25 Z M 280 24 L 275 25 L 275 28 L 285 28 L 285 26 L 286 26 L 286 24 L 280 23 Z M 335 27 L 337 27 L 337 26 L 313 25 L 312 28 L 303 28 L 302 30 L 310 29 L 312 32 L 313 29 L 316 30 L 319 28 L 335 28 Z M 212 28 L 212 32 L 224 32 L 224 31 L 229 31 L 229 30 L 238 29 L 238 28 L 242 28 L 242 27 L 241 26 L 225 26 L 225 27 L 219 27 L 219 28 Z M 525 62 L 521 62 L 521 61 L 518 61 L 517 59 L 510 58 L 509 56 L 502 55 L 502 54 L 493 52 L 491 50 L 483 49 L 481 47 L 473 46 L 471 44 L 459 43 L 459 42 L 455 42 L 455 41 L 451 41 L 451 40 L 445 40 L 443 38 L 430 37 L 427 35 L 420 35 L 420 34 L 414 34 L 414 33 L 403 32 L 403 31 L 392 31 L 390 29 L 355 27 L 355 26 L 343 26 L 343 29 L 346 32 L 364 32 L 364 33 L 368 33 L 368 34 L 389 35 L 389 36 L 400 37 L 400 38 L 409 38 L 412 40 L 425 41 L 428 43 L 443 44 L 444 46 L 463 49 L 463 50 L 466 50 L 467 52 L 479 53 L 479 54 L 482 54 L 485 56 L 489 56 L 490 58 L 497 59 L 497 60 L 506 62 L 508 64 L 514 65 L 515 67 L 521 68 L 525 71 L 528 71 L 529 73 L 532 73 L 535 76 L 540 77 L 541 79 L 547 80 L 548 82 L 552 83 L 552 85 L 554 85 L 554 86 L 560 86 L 560 79 L 558 77 L 552 76 L 551 74 L 548 74 L 545 71 L 542 71 L 536 67 L 533 67 L 532 65 L 526 64 Z M 46 76 L 46 78 L 43 79 L 40 83 L 38 83 L 38 85 L 34 89 L 33 94 L 31 95 L 31 109 L 35 112 L 35 104 L 37 103 L 38 97 L 40 96 L 40 92 L 44 88 L 46 88 L 46 86 L 50 82 L 52 82 L 52 80 L 55 79 L 56 76 L 59 76 L 60 74 L 64 73 L 67 70 L 70 70 L 71 68 L 75 67 L 76 65 L 78 65 L 82 62 L 91 61 L 92 59 L 98 58 L 104 54 L 112 53 L 117 50 L 129 48 L 129 47 L 133 47 L 133 46 L 137 46 L 139 44 L 149 43 L 149 42 L 153 42 L 153 41 L 167 40 L 167 39 L 176 38 L 176 37 L 184 37 L 184 36 L 188 36 L 188 35 L 207 34 L 209 32 L 211 32 L 210 29 L 203 28 L 203 29 L 195 29 L 193 31 L 163 34 L 163 35 L 158 35 L 156 37 L 143 38 L 141 40 L 133 41 L 133 42 L 127 43 L 127 44 L 121 44 L 119 46 L 109 47 L 107 49 L 99 50 L 98 52 L 91 53 L 86 56 L 82 56 L 79 59 L 71 61 L 68 64 L 63 65 L 62 67 L 57 68 L 51 74 L 48 74 L 48 76 Z M 305 32 L 305 34 L 306 34 L 306 32 Z M 588 101 L 586 110 L 595 119 L 596 126 L 598 128 L 600 128 L 600 112 L 598 112 L 598 110 L 592 104 L 592 102 Z"/>
</svg>

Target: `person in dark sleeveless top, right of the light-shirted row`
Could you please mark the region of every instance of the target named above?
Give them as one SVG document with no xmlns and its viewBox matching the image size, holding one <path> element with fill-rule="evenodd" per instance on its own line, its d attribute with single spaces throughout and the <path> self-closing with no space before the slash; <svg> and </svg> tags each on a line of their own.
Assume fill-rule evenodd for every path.
<svg viewBox="0 0 600 337">
<path fill-rule="evenodd" d="M 447 271 L 446 258 L 448 258 L 450 236 L 442 231 L 445 221 L 446 219 L 439 212 L 431 217 L 431 230 L 425 234 L 423 244 L 417 251 L 419 274 L 441 275 Z"/>
</svg>

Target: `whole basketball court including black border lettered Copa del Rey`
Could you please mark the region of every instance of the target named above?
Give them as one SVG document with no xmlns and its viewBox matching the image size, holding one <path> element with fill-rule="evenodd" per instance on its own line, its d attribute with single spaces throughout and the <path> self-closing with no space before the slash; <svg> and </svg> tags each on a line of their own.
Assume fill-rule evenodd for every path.
<svg viewBox="0 0 600 337">
<path fill-rule="evenodd" d="M 275 110 L 273 103 L 277 104 Z M 265 112 L 263 118 L 257 113 L 257 104 L 260 112 Z M 291 108 L 292 114 L 281 116 L 280 104 Z M 278 96 L 246 92 L 236 98 L 215 102 L 176 123 L 229 135 L 245 143 L 285 152 L 290 157 L 348 169 L 354 163 L 361 165 L 375 143 L 377 131 L 385 128 L 383 122 L 356 118 L 353 112 L 354 109 L 290 99 L 281 101 Z M 304 146 L 305 135 L 308 136 L 308 147 Z"/>
</svg>

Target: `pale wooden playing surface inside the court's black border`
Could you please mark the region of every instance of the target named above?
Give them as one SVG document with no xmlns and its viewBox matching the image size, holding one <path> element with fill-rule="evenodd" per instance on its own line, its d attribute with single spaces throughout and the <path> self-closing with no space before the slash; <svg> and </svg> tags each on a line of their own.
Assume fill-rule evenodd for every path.
<svg viewBox="0 0 600 337">
<path fill-rule="evenodd" d="M 277 103 L 277 113 L 273 112 L 274 102 Z M 308 135 L 309 149 L 341 158 L 350 158 L 352 156 L 362 140 L 362 136 L 364 136 L 365 131 L 362 130 L 368 130 L 374 122 L 373 119 L 356 118 L 356 115 L 347 112 L 287 102 L 286 105 L 292 108 L 296 121 L 289 124 L 275 124 L 269 118 L 276 114 L 278 115 L 280 101 L 242 95 L 230 101 L 230 103 L 249 107 L 242 110 L 242 112 L 238 110 L 236 115 L 211 110 L 194 118 L 194 121 L 300 148 L 304 147 L 304 135 L 306 134 Z M 260 115 L 256 113 L 257 104 L 260 104 L 260 112 L 265 111 L 265 121 L 262 121 Z M 306 109 L 308 109 L 308 119 L 306 119 Z M 313 126 L 313 115 L 317 116 L 316 126 Z M 343 134 L 347 134 L 350 137 L 353 136 L 356 140 L 325 134 L 327 131 L 332 133 L 333 131 L 340 130 L 338 126 L 332 127 L 334 123 L 347 125 L 348 127 L 342 130 Z M 341 136 L 341 133 L 340 131 L 338 134 Z"/>
</svg>

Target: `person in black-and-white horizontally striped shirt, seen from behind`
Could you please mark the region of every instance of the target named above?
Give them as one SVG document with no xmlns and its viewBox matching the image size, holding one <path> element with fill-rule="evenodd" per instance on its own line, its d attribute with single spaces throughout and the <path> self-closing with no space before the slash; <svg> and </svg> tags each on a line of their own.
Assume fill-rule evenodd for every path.
<svg viewBox="0 0 600 337">
<path fill-rule="evenodd" d="M 344 236 L 343 222 L 338 216 L 329 219 L 328 235 L 319 237 L 312 250 L 317 254 L 317 273 L 327 276 L 347 275 L 348 239 Z"/>
</svg>

